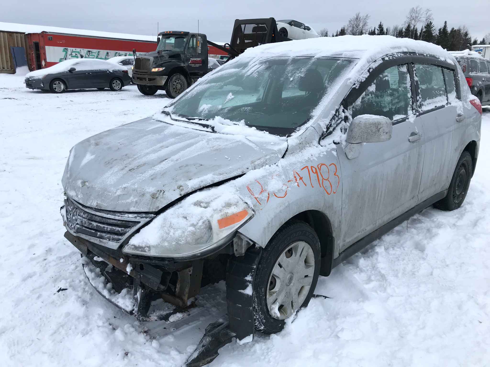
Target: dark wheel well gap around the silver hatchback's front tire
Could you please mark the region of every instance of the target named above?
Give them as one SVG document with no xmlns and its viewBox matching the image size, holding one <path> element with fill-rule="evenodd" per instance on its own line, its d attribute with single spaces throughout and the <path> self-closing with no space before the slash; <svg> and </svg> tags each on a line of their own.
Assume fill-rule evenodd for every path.
<svg viewBox="0 0 490 367">
<path fill-rule="evenodd" d="M 320 275 L 328 276 L 332 271 L 335 239 L 332 235 L 332 224 L 328 217 L 319 210 L 306 210 L 291 219 L 308 223 L 317 233 L 320 241 L 321 267 Z"/>
</svg>

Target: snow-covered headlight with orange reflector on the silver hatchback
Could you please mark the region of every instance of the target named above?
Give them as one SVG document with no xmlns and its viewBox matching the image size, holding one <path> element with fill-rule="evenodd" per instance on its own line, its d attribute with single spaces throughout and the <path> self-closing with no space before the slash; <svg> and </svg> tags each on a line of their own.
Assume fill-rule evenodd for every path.
<svg viewBox="0 0 490 367">
<path fill-rule="evenodd" d="M 186 259 L 226 245 L 253 215 L 227 193 L 209 198 L 200 191 L 159 214 L 124 246 L 123 253 Z"/>
</svg>

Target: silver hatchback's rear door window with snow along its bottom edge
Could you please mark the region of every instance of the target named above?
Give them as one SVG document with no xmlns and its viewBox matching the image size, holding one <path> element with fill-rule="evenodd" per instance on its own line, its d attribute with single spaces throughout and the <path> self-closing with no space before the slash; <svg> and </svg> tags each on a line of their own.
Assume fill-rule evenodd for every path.
<svg viewBox="0 0 490 367">
<path fill-rule="evenodd" d="M 418 80 L 421 110 L 429 111 L 445 106 L 447 96 L 442 68 L 435 65 L 415 64 L 415 72 Z"/>
</svg>

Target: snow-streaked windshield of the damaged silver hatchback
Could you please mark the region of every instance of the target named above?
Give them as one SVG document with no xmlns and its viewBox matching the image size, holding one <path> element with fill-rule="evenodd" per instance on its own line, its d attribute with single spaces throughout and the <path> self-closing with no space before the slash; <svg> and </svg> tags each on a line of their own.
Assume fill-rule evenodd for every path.
<svg viewBox="0 0 490 367">
<path fill-rule="evenodd" d="M 236 60 L 167 108 L 177 117 L 217 116 L 276 135 L 307 122 L 319 101 L 354 59 L 274 57 Z"/>
</svg>

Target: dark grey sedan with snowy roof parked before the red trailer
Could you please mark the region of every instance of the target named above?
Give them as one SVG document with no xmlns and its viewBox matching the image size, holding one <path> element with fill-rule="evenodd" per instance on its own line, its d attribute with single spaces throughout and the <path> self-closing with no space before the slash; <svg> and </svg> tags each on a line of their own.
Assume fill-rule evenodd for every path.
<svg viewBox="0 0 490 367">
<path fill-rule="evenodd" d="M 69 89 L 109 88 L 121 91 L 131 83 L 128 70 L 120 65 L 97 59 L 65 60 L 46 69 L 25 75 L 25 87 L 63 93 Z"/>
</svg>

